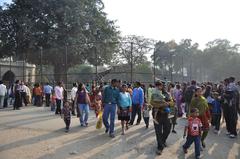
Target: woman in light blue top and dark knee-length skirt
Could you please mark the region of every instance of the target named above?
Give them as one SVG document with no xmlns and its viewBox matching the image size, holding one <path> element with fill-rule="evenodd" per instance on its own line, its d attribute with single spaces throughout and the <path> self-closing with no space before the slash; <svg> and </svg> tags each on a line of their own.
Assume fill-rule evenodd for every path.
<svg viewBox="0 0 240 159">
<path fill-rule="evenodd" d="M 125 134 L 124 125 L 126 124 L 126 130 L 128 129 L 128 121 L 130 120 L 130 108 L 132 107 L 132 100 L 130 94 L 127 92 L 127 85 L 122 85 L 122 91 L 118 98 L 118 120 L 121 120 L 122 135 Z"/>
</svg>

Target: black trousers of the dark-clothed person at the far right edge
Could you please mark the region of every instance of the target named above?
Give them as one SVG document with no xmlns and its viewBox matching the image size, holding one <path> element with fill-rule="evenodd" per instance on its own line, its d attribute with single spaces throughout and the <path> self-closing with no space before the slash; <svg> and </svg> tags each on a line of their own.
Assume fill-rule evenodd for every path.
<svg viewBox="0 0 240 159">
<path fill-rule="evenodd" d="M 230 134 L 237 135 L 238 114 L 236 106 L 224 104 L 223 114 L 226 121 L 227 131 L 230 132 Z"/>
</svg>

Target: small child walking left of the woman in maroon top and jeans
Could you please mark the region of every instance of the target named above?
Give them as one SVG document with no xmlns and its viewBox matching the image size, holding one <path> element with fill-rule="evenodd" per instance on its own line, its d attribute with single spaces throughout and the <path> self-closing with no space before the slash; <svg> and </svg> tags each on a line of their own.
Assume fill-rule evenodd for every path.
<svg viewBox="0 0 240 159">
<path fill-rule="evenodd" d="M 71 123 L 71 108 L 70 108 L 70 105 L 69 105 L 68 101 L 66 101 L 63 105 L 61 117 L 66 124 L 65 132 L 68 132 L 69 127 L 70 127 L 70 123 Z"/>
</svg>

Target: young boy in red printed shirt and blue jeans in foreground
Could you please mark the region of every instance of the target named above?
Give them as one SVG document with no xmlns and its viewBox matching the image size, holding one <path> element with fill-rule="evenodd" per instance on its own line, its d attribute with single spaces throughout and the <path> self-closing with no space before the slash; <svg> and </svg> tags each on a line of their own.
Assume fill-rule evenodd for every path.
<svg viewBox="0 0 240 159">
<path fill-rule="evenodd" d="M 196 157 L 196 159 L 199 159 L 200 158 L 200 142 L 201 142 L 202 122 L 197 116 L 198 116 L 198 109 L 197 108 L 191 109 L 191 116 L 188 118 L 188 122 L 184 129 L 183 138 L 186 137 L 186 132 L 188 132 L 188 134 L 187 134 L 187 141 L 183 145 L 183 151 L 184 151 L 184 153 L 187 153 L 187 149 L 194 142 L 195 157 Z"/>
</svg>

